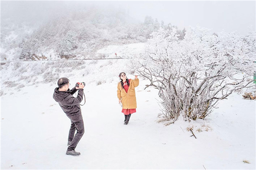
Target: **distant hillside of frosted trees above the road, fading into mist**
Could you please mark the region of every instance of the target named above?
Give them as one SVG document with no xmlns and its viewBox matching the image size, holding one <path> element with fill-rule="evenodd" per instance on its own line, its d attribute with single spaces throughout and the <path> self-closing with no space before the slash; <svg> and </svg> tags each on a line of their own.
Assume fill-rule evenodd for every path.
<svg viewBox="0 0 256 170">
<path fill-rule="evenodd" d="M 28 23 L 16 24 L 7 19 L 3 23 L 1 43 L 5 52 L 14 50 L 15 58 L 22 60 L 47 59 L 44 55 L 51 50 L 60 58 L 95 57 L 96 51 L 107 45 L 147 42 L 160 27 L 175 28 L 181 40 L 186 34 L 185 28 L 179 30 L 150 16 L 144 23 L 136 23 L 125 11 L 99 8 L 57 14 L 33 27 L 33 31 L 28 31 L 32 29 Z M 1 56 L 8 58 L 5 52 Z"/>
</svg>

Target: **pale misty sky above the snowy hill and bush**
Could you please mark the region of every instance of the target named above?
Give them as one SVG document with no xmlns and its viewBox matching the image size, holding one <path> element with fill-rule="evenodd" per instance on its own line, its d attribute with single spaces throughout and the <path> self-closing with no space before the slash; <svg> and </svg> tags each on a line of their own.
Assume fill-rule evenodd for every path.
<svg viewBox="0 0 256 170">
<path fill-rule="evenodd" d="M 22 6 L 24 4 L 24 6 Z M 81 4 L 81 5 L 80 5 Z M 247 33 L 247 28 L 256 29 L 256 1 L 1 1 L 1 15 L 36 17 L 47 10 L 59 10 L 60 6 L 100 6 L 116 10 L 123 9 L 136 20 L 144 21 L 145 16 L 157 18 L 159 22 L 171 23 L 179 29 L 195 27 L 212 28 L 212 32 L 237 31 Z M 56 10 L 56 11 L 58 11 Z"/>
</svg>

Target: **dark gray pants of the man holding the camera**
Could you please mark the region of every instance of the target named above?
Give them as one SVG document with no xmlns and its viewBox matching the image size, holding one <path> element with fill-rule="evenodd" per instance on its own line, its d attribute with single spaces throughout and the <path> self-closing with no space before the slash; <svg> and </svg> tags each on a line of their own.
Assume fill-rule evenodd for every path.
<svg viewBox="0 0 256 170">
<path fill-rule="evenodd" d="M 75 135 L 76 131 L 76 135 Z M 75 136 L 74 136 L 75 135 Z M 84 121 L 83 119 L 79 120 L 78 122 L 73 122 L 71 120 L 70 131 L 68 135 L 68 141 L 72 141 L 70 146 L 67 147 L 67 150 L 75 150 L 78 142 L 84 135 Z"/>
</svg>

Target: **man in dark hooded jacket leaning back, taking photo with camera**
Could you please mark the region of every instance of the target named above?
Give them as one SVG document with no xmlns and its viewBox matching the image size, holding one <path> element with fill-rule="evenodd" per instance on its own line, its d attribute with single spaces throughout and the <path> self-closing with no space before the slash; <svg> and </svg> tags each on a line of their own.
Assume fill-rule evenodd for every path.
<svg viewBox="0 0 256 170">
<path fill-rule="evenodd" d="M 84 83 L 80 83 L 79 87 L 74 87 L 71 90 L 69 86 L 70 82 L 66 77 L 58 79 L 58 88 L 54 90 L 53 99 L 58 102 L 64 113 L 66 113 L 67 117 L 71 120 L 66 154 L 79 156 L 80 153 L 76 152 L 75 149 L 84 134 L 84 121 L 79 105 L 83 99 Z M 77 90 L 78 95 L 74 97 L 73 94 L 75 94 Z"/>
</svg>

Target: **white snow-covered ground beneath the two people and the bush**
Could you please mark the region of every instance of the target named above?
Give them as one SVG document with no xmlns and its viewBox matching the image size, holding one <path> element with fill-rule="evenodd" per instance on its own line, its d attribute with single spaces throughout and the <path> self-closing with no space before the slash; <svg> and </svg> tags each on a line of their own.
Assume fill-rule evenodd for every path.
<svg viewBox="0 0 256 170">
<path fill-rule="evenodd" d="M 116 86 L 128 60 L 71 62 L 3 65 L 1 169 L 256 169 L 255 101 L 234 93 L 204 120 L 180 117 L 165 126 L 157 122 L 158 91 L 144 90 L 148 82 L 139 77 L 137 113 L 123 125 Z M 78 157 L 65 155 L 70 120 L 52 98 L 51 77 L 68 77 L 71 86 L 86 82 Z"/>
</svg>

